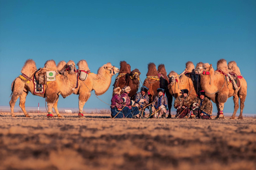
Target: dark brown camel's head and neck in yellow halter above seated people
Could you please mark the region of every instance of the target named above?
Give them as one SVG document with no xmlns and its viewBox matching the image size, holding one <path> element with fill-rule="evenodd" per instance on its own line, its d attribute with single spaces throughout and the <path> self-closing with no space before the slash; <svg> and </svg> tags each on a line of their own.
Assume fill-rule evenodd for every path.
<svg viewBox="0 0 256 170">
<path fill-rule="evenodd" d="M 140 75 L 141 72 L 139 71 L 139 69 L 135 68 L 126 77 L 126 85 L 130 86 L 131 88 L 131 91 L 129 93 L 130 98 L 134 98 L 135 94 L 137 94 L 140 85 Z"/>
</svg>

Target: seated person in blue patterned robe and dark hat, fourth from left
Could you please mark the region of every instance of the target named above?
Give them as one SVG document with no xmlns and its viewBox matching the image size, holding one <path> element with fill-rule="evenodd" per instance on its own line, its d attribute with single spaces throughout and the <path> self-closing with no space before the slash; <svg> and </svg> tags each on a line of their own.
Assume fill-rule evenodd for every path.
<svg viewBox="0 0 256 170">
<path fill-rule="evenodd" d="M 167 112 L 167 98 L 164 96 L 164 89 L 157 89 L 158 96 L 152 102 L 153 118 L 165 118 Z"/>
</svg>

